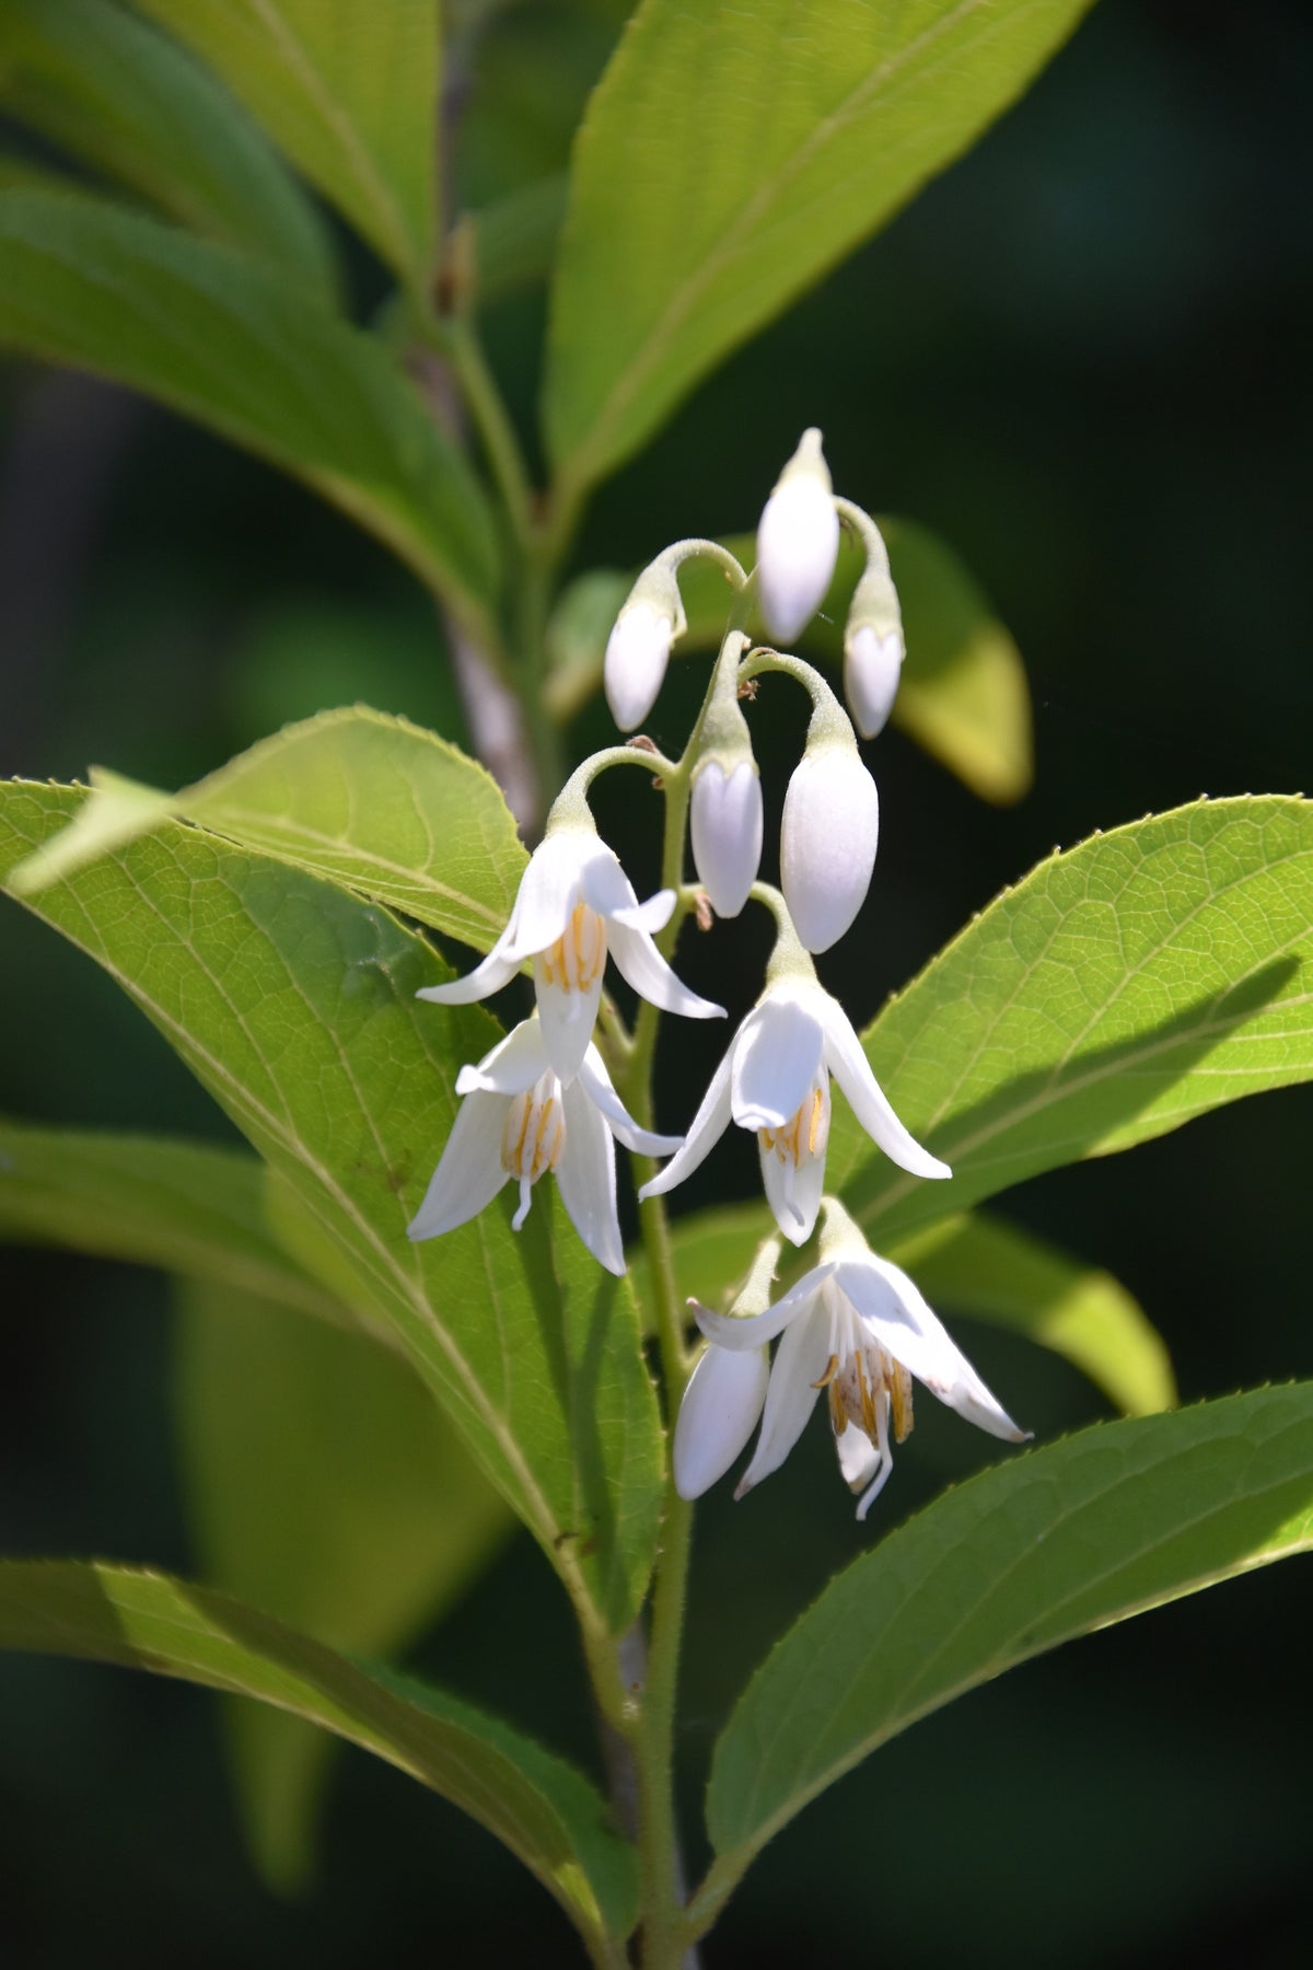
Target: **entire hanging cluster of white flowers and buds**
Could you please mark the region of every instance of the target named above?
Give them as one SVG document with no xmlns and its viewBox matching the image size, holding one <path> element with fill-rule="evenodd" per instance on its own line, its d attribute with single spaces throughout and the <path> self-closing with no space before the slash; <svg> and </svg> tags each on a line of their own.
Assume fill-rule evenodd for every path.
<svg viewBox="0 0 1313 1970">
<path fill-rule="evenodd" d="M 844 526 L 864 554 L 844 628 L 844 693 L 862 737 L 872 737 L 898 690 L 902 613 L 880 532 L 858 506 L 835 496 L 819 431 L 803 433 L 766 502 L 752 575 L 715 542 L 683 540 L 634 583 L 602 666 L 622 731 L 634 731 L 652 711 L 671 646 L 687 628 L 681 563 L 703 556 L 730 579 L 736 601 L 703 711 L 681 760 L 654 755 L 646 739 L 585 760 L 551 810 L 492 952 L 469 977 L 419 993 L 439 1005 L 467 1005 L 500 991 L 531 963 L 537 1003 L 476 1066 L 461 1070 L 463 1107 L 409 1235 L 453 1231 L 508 1182 L 518 1184 L 512 1225 L 520 1229 L 533 1184 L 551 1170 L 587 1247 L 608 1271 L 622 1273 L 614 1143 L 669 1156 L 640 1190 L 640 1198 L 656 1198 L 699 1168 L 730 1121 L 752 1131 L 780 1237 L 758 1253 L 730 1314 L 689 1302 L 709 1346 L 677 1420 L 675 1483 L 685 1497 L 697 1497 L 728 1470 L 760 1422 L 740 1497 L 782 1464 L 825 1389 L 839 1464 L 860 1493 L 864 1517 L 890 1474 L 892 1444 L 911 1428 L 911 1377 L 996 1436 L 1020 1440 L 1024 1432 L 913 1282 L 868 1251 L 843 1206 L 825 1196 L 831 1082 L 886 1156 L 913 1176 L 951 1176 L 894 1113 L 846 1013 L 813 965 L 813 953 L 844 936 L 866 898 L 880 820 L 876 782 L 825 678 L 797 656 L 754 648 L 746 632 L 756 609 L 778 642 L 797 638 L 829 593 Z M 807 745 L 783 800 L 782 892 L 758 881 L 762 788 L 742 711 L 744 693 L 766 672 L 782 672 L 811 695 Z M 667 802 L 677 804 L 675 820 L 689 825 L 699 890 L 677 888 L 679 869 L 667 867 L 671 886 L 640 904 L 587 806 L 593 778 L 612 764 L 656 764 Z M 606 1046 L 622 1034 L 614 1009 L 606 1040 L 596 1040 L 606 957 L 661 1011 L 720 1018 L 722 1007 L 689 991 L 654 938 L 675 910 L 697 904 L 699 914 L 711 906 L 732 918 L 750 896 L 776 916 L 764 991 L 734 1032 L 687 1137 L 656 1135 L 634 1119 L 608 1074 Z M 620 1038 L 612 1068 L 628 1072 L 632 1058 Z M 805 1245 L 821 1214 L 819 1265 L 772 1300 L 782 1239 Z M 776 1338 L 772 1367 L 766 1344 Z"/>
</svg>

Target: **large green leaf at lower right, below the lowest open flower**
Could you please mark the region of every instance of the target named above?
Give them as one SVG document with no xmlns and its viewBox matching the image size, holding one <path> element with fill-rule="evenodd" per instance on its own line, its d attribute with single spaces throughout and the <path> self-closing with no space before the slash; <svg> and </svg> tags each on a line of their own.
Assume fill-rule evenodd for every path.
<svg viewBox="0 0 1313 1970">
<path fill-rule="evenodd" d="M 809 1799 L 965 1690 L 1313 1544 L 1313 1385 L 1096 1424 L 947 1491 L 793 1623 L 717 1745 L 711 1919 Z"/>
</svg>

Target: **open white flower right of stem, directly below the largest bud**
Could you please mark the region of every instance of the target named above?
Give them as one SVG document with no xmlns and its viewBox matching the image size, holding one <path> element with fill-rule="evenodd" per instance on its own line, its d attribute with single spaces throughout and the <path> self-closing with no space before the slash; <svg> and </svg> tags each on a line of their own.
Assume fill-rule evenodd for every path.
<svg viewBox="0 0 1313 1970">
<path fill-rule="evenodd" d="M 736 1121 L 758 1135 L 762 1182 L 776 1223 L 793 1245 L 805 1243 L 825 1188 L 831 1074 L 886 1156 L 913 1176 L 953 1174 L 900 1123 L 839 1001 L 815 979 L 793 975 L 770 985 L 748 1013 L 711 1078 L 683 1149 L 644 1184 L 640 1198 L 681 1184 Z"/>
</svg>

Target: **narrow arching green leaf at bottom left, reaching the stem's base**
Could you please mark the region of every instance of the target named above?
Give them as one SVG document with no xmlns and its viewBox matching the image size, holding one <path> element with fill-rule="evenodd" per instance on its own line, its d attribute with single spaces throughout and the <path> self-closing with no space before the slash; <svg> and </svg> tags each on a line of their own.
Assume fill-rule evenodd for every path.
<svg viewBox="0 0 1313 1970">
<path fill-rule="evenodd" d="M 104 1562 L 2 1562 L 0 1647 L 150 1669 L 307 1718 L 504 1840 L 585 1937 L 634 1925 L 634 1850 L 593 1785 L 445 1690 L 366 1671 L 222 1594 Z"/>
</svg>

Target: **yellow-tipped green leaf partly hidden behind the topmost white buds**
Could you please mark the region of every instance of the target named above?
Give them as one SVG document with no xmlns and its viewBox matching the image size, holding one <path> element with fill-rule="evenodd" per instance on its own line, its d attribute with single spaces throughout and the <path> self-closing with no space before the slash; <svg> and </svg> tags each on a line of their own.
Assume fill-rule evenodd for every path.
<svg viewBox="0 0 1313 1970">
<path fill-rule="evenodd" d="M 907 662 L 894 699 L 892 723 L 978 794 L 1008 804 L 1033 778 L 1030 691 L 1020 652 L 959 556 L 913 520 L 882 518 L 907 640 Z M 744 567 L 756 559 L 750 534 L 724 546 Z M 801 638 L 813 662 L 843 670 L 843 624 L 862 554 L 844 534 L 835 581 Z M 571 719 L 602 684 L 602 658 L 612 623 L 634 575 L 594 567 L 561 593 L 547 626 L 547 703 Z M 689 626 L 675 656 L 715 650 L 724 636 L 730 589 L 711 561 L 689 559 L 679 571 Z M 770 640 L 760 611 L 748 630 Z"/>
</svg>

